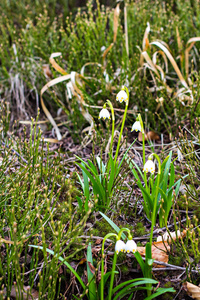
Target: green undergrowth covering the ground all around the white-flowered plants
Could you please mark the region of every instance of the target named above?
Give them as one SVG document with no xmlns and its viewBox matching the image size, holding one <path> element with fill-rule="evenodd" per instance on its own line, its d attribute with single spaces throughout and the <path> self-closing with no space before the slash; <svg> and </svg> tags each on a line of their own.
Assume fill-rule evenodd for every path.
<svg viewBox="0 0 200 300">
<path fill-rule="evenodd" d="M 80 88 L 85 103 L 91 105 L 87 109 L 96 123 L 96 131 L 89 136 L 93 138 L 93 146 L 88 143 L 81 159 L 85 161 L 85 153 L 88 157 L 87 151 L 91 151 L 92 162 L 96 162 L 97 156 L 104 163 L 108 161 L 105 152 L 111 126 L 104 121 L 98 121 L 99 109 L 107 99 L 115 103 L 113 106 L 118 130 L 123 109 L 114 101 L 124 84 L 128 86 L 130 102 L 125 134 L 123 132 L 125 143 L 117 148 L 120 150 L 119 158 L 121 159 L 121 154 L 129 147 L 129 129 L 138 112 L 144 120 L 145 130 L 154 130 L 159 135 L 164 134 L 164 137 L 172 134 L 172 139 L 176 137 L 176 141 L 169 145 L 166 145 L 164 139 L 165 145 L 160 147 L 164 150 L 157 150 L 156 145 L 151 145 L 151 150 L 161 152 L 159 155 L 162 161 L 172 149 L 175 180 L 182 178 L 181 192 L 173 194 L 169 218 L 166 217 L 166 226 L 162 230 L 163 233 L 166 230 L 185 232 L 184 237 L 172 241 L 168 252 L 169 263 L 185 268 L 181 280 L 197 285 L 200 282 L 199 41 L 190 52 L 189 76 L 186 74 L 182 55 L 187 41 L 198 37 L 200 32 L 199 2 L 128 1 L 129 57 L 125 45 L 124 3 L 120 2 L 117 38 L 104 58 L 105 49 L 113 42 L 114 10 L 100 6 L 98 1 L 95 2 L 96 8 L 93 4 L 94 1 L 87 1 L 87 5 L 77 9 L 76 14 L 69 13 L 71 1 L 57 4 L 54 0 L 49 0 L 45 5 L 29 0 L 20 1 L 19 4 L 15 1 L 4 1 L 0 4 L 0 299 L 4 299 L 5 295 L 12 299 L 13 290 L 17 291 L 17 299 L 23 299 L 27 286 L 29 292 L 26 292 L 26 297 L 27 293 L 33 293 L 33 289 L 38 293 L 39 299 L 70 299 L 73 295 L 80 295 L 82 288 L 77 284 L 78 281 L 74 281 L 72 269 L 65 262 L 70 263 L 87 284 L 86 252 L 90 240 L 95 267 L 95 271 L 92 271 L 99 283 L 102 238 L 114 232 L 113 227 L 98 214 L 99 207 L 95 206 L 95 195 L 89 184 L 88 201 L 91 205 L 87 207 L 87 211 L 80 211 L 77 196 L 84 201 L 85 195 L 78 185 L 74 170 L 80 178 L 83 173 L 75 167 L 75 162 L 73 168 L 70 168 L 71 165 L 65 159 L 64 146 L 55 150 L 54 146 L 44 141 L 37 125 L 39 117 L 36 117 L 36 121 L 31 119 L 31 116 L 38 114 L 42 87 L 51 79 L 60 76 L 51 65 L 50 76 L 44 73 L 45 65 L 49 64 L 49 57 L 53 52 L 62 53 L 55 60 L 69 74 L 80 73 L 81 68 L 88 63 L 84 71 L 86 80 L 80 86 L 77 84 L 77 87 Z M 147 22 L 151 28 L 148 41 L 162 40 L 170 47 L 170 53 L 190 87 L 193 98 L 188 94 L 189 98 L 184 98 L 184 95 L 183 98 L 177 96 L 177 91 L 183 86 L 169 61 L 168 71 L 163 73 L 166 81 L 152 76 L 152 70 L 147 68 L 147 63 L 141 64 L 140 49 L 147 51 L 149 57 L 156 51 L 152 45 L 149 48 L 142 47 Z M 102 47 L 105 47 L 104 50 Z M 159 55 L 161 52 L 157 53 L 157 63 L 165 70 L 165 63 Z M 66 113 L 67 122 L 62 123 L 59 128 L 62 133 L 65 132 L 64 129 L 68 130 L 76 143 L 83 145 L 80 132 L 88 126 L 82 114 L 84 105 L 80 105 L 75 96 L 72 99 L 66 96 L 66 83 L 47 90 L 43 95 L 44 102 L 53 117 L 59 107 L 65 108 L 63 111 Z M 171 89 L 170 93 L 163 88 L 166 87 L 164 83 Z M 153 90 L 153 87 L 158 89 Z M 23 127 L 14 121 L 17 119 L 30 119 L 31 122 Z M 56 122 L 60 123 L 62 120 L 56 119 Z M 52 126 L 48 125 L 48 130 L 51 129 Z M 129 138 L 126 140 L 127 135 Z M 131 135 L 131 142 L 133 136 L 134 133 Z M 117 137 L 113 136 L 114 153 Z M 138 149 L 138 145 L 141 146 L 137 141 L 132 150 Z M 136 152 L 132 151 L 131 158 L 138 159 Z M 149 153 L 150 147 L 145 153 L 146 158 Z M 69 154 L 72 156 L 74 153 Z M 140 167 L 138 170 L 142 170 Z M 134 239 L 149 234 L 151 222 L 144 209 L 141 209 L 144 195 L 138 188 L 138 179 L 135 180 L 127 168 L 128 164 L 121 167 L 120 176 L 113 184 L 114 192 L 109 207 L 105 207 L 103 211 L 119 228 L 129 229 Z M 98 175 L 102 176 L 101 168 Z M 110 178 L 109 174 L 105 175 Z M 156 177 L 148 177 L 148 181 L 149 178 L 152 180 Z M 154 221 L 158 229 L 158 218 Z M 157 235 L 153 236 L 154 241 Z M 97 242 L 98 238 L 100 242 Z M 144 247 L 147 240 L 137 241 L 138 246 Z M 114 242 L 109 241 L 107 246 L 108 251 L 114 251 Z M 107 257 L 110 271 L 113 257 L 110 254 L 105 259 Z M 61 258 L 65 261 L 61 262 Z M 138 269 L 136 260 L 127 258 L 125 253 L 118 256 L 118 263 L 122 279 L 132 276 L 132 273 L 133 277 L 138 275 L 137 272 L 134 273 L 134 269 Z M 133 272 L 130 268 L 133 268 Z M 170 274 L 169 279 L 173 276 Z M 118 275 L 117 278 L 119 277 Z M 162 286 L 165 285 L 164 277 L 166 276 L 163 275 Z M 166 284 L 167 287 L 171 285 Z M 177 290 L 181 288 L 178 285 L 175 287 Z M 84 292 L 83 299 L 86 299 L 88 290 Z M 171 295 L 162 297 L 170 299 Z"/>
</svg>

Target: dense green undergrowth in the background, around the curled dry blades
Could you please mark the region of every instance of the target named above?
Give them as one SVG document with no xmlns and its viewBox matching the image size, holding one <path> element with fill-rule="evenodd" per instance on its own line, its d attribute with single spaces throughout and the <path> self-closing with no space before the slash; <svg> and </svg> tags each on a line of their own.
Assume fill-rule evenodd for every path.
<svg viewBox="0 0 200 300">
<path fill-rule="evenodd" d="M 87 6 L 79 9 L 76 15 L 66 15 L 66 10 L 71 5 L 69 1 L 65 4 L 59 3 L 58 6 L 55 1 L 51 4 L 46 1 L 45 5 L 35 2 L 35 6 L 29 1 L 20 2 L 19 5 L 15 1 L 1 4 L 3 13 L 0 17 L 0 91 L 1 97 L 12 103 L 13 113 L 17 112 L 18 116 L 23 117 L 37 114 L 40 90 L 50 79 L 45 78 L 43 66 L 49 63 L 49 57 L 53 52 L 61 52 L 62 56 L 56 60 L 68 73 L 72 71 L 79 73 L 84 64 L 89 63 L 85 68 L 85 75 L 89 79 L 83 89 L 84 100 L 88 105 L 101 105 L 102 100 L 105 101 L 107 98 L 112 101 L 116 89 L 127 82 L 134 114 L 141 112 L 143 119 L 146 118 L 146 126 L 158 133 L 163 131 L 177 133 L 177 125 L 185 122 L 186 114 L 191 123 L 199 114 L 197 47 L 192 50 L 194 62 L 190 62 L 193 103 L 183 103 L 176 99 L 177 79 L 173 80 L 176 74 L 169 62 L 168 75 L 172 79 L 168 84 L 173 90 L 171 95 L 163 89 L 150 91 L 152 78 L 148 71 L 146 73 L 138 71 L 139 48 L 142 49 L 147 22 L 151 27 L 150 42 L 164 41 L 169 45 L 172 55 L 177 57 L 180 49 L 176 29 L 179 30 L 183 47 L 189 38 L 197 37 L 199 34 L 200 7 L 197 1 L 182 3 L 176 0 L 152 3 L 150 0 L 144 0 L 137 5 L 130 1 L 127 4 L 129 58 L 125 47 L 123 3 L 121 3 L 117 39 L 104 61 L 102 47 L 106 49 L 113 42 L 111 8 L 100 6 L 97 1 L 95 5 L 97 9 L 94 9 L 92 1 L 88 1 Z M 17 14 L 18 10 L 26 17 L 20 17 L 21 14 Z M 13 12 L 15 12 L 14 18 L 11 17 Z M 92 63 L 101 64 L 103 69 Z M 159 63 L 163 67 L 162 62 Z M 184 69 L 179 60 L 177 64 L 184 76 Z M 59 74 L 53 68 L 51 72 L 53 78 L 58 77 Z M 62 101 L 62 105 L 69 112 L 69 118 L 73 124 L 76 123 L 77 116 L 80 117 L 81 112 L 75 97 L 70 100 L 70 103 L 67 101 L 64 84 L 54 87 L 54 91 L 55 93 L 45 93 L 47 107 L 55 111 Z M 162 106 L 159 106 L 160 98 L 164 99 Z M 35 108 L 32 105 L 31 108 L 30 103 L 34 103 Z M 145 109 L 146 113 L 144 113 Z M 89 112 L 96 119 L 99 111 L 91 108 Z M 131 118 L 132 116 L 129 115 L 127 119 L 130 123 L 132 123 Z M 172 120 L 175 120 L 175 123 Z M 74 126 L 76 127 L 76 124 Z M 85 126 L 86 122 L 82 119 L 82 125 L 79 127 L 77 124 L 77 129 L 82 130 Z"/>
</svg>

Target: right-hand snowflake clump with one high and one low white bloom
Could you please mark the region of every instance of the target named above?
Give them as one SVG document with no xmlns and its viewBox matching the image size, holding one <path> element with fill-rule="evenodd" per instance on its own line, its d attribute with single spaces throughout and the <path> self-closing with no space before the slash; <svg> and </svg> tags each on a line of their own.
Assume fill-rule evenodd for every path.
<svg viewBox="0 0 200 300">
<path fill-rule="evenodd" d="M 164 159 L 162 164 L 159 156 L 155 153 L 152 153 L 146 161 L 144 127 L 140 114 L 138 115 L 138 120 L 135 122 L 135 124 L 136 123 L 138 126 L 140 126 L 139 129 L 142 132 L 144 174 L 134 160 L 128 157 L 128 154 L 126 155 L 126 161 L 129 164 L 129 167 L 136 179 L 136 183 L 142 192 L 144 199 L 143 208 L 147 218 L 154 219 L 158 214 L 160 227 L 163 227 L 167 224 L 173 199 L 179 192 L 182 179 L 175 181 L 175 168 L 174 162 L 172 161 L 172 151 L 170 151 L 169 155 Z M 155 157 L 158 162 L 157 176 L 154 174 L 155 164 L 152 161 L 153 157 Z M 149 180 L 147 180 L 146 174 L 148 172 L 152 174 Z"/>
</svg>

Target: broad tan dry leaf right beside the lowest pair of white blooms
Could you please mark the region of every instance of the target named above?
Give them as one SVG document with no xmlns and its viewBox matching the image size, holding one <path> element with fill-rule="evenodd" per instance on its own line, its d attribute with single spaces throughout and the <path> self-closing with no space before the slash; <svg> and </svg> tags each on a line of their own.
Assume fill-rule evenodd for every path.
<svg viewBox="0 0 200 300">
<path fill-rule="evenodd" d="M 140 253 L 140 255 L 145 256 L 145 247 L 137 247 L 137 250 Z M 167 264 L 169 257 L 166 251 L 169 250 L 170 250 L 170 246 L 167 243 L 163 244 L 163 242 L 154 242 L 152 245 L 152 258 Z M 156 268 L 163 267 L 162 265 L 157 265 L 157 264 L 153 264 L 153 266 Z"/>
</svg>

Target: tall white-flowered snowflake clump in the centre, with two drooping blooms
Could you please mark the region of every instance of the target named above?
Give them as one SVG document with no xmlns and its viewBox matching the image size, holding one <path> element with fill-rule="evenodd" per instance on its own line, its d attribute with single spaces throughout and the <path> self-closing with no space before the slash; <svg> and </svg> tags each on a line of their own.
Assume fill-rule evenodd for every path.
<svg viewBox="0 0 200 300">
<path fill-rule="evenodd" d="M 120 94 L 121 93 L 121 94 Z M 131 146 L 127 149 L 125 154 L 123 155 L 121 161 L 119 162 L 118 154 L 119 149 L 121 145 L 121 137 L 124 129 L 128 104 L 129 104 L 129 92 L 126 87 L 123 87 L 122 90 L 118 93 L 119 97 L 122 95 L 122 98 L 119 99 L 120 102 L 125 101 L 125 111 L 122 119 L 119 139 L 117 143 L 117 148 L 115 155 L 113 156 L 113 141 L 114 141 L 114 134 L 115 134 L 115 116 L 114 116 L 114 109 L 112 106 L 112 103 L 107 100 L 106 104 L 109 105 L 111 109 L 111 115 L 112 115 L 112 134 L 111 134 L 111 141 L 110 141 L 110 152 L 109 152 L 109 158 L 106 163 L 103 162 L 102 158 L 97 156 L 96 161 L 92 162 L 91 160 L 87 160 L 85 162 L 82 158 L 77 157 L 78 160 L 81 161 L 81 163 L 76 163 L 80 169 L 82 170 L 83 174 L 83 181 L 78 175 L 79 182 L 81 184 L 81 187 L 84 192 L 85 196 L 85 202 L 83 203 L 82 199 L 78 197 L 78 203 L 79 208 L 81 211 L 84 210 L 88 211 L 89 204 L 88 202 L 91 201 L 92 194 L 95 200 L 97 200 L 95 203 L 95 208 L 99 210 L 106 210 L 110 207 L 110 202 L 113 196 L 114 190 L 116 190 L 118 177 L 120 174 L 120 171 L 122 169 L 122 164 L 124 162 L 124 159 L 131 148 L 131 146 L 134 144 L 134 142 L 131 144 Z M 118 96 L 117 96 L 118 97 Z M 108 118 L 110 119 L 110 113 L 106 109 L 106 104 L 103 106 L 103 109 L 101 110 L 99 114 L 99 118 Z M 90 180 L 90 184 L 89 184 Z M 91 190 L 90 190 L 91 187 Z"/>
</svg>

